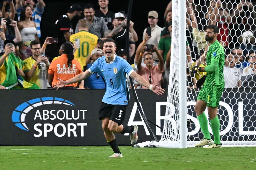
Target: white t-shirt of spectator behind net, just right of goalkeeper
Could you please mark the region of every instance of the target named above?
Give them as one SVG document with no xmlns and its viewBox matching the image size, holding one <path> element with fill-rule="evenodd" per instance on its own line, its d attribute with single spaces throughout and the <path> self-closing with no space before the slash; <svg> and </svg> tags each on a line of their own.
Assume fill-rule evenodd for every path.
<svg viewBox="0 0 256 170">
<path fill-rule="evenodd" d="M 238 81 L 242 75 L 241 69 L 237 67 L 230 68 L 225 65 L 223 74 L 225 80 L 225 88 L 238 88 Z"/>
</svg>

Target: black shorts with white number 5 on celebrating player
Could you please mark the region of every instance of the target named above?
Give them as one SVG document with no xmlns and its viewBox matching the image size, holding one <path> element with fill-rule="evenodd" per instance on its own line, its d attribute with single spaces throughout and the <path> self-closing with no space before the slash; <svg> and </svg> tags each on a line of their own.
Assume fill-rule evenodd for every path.
<svg viewBox="0 0 256 170">
<path fill-rule="evenodd" d="M 99 119 L 109 117 L 110 120 L 121 125 L 125 118 L 125 110 L 127 105 L 112 105 L 102 102 L 99 109 Z"/>
</svg>

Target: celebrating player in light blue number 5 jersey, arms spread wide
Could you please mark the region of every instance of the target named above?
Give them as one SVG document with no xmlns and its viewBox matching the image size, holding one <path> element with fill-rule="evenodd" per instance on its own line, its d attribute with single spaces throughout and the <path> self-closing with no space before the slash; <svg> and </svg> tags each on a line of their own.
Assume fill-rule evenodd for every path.
<svg viewBox="0 0 256 170">
<path fill-rule="evenodd" d="M 123 157 L 113 132 L 121 134 L 130 133 L 132 145 L 138 140 L 137 125 L 122 125 L 125 117 L 125 109 L 129 101 L 125 73 L 157 95 L 162 95 L 164 89 L 157 87 L 159 83 L 150 85 L 143 77 L 134 72 L 126 60 L 115 55 L 115 50 L 116 42 L 111 38 L 107 38 L 103 42 L 105 56 L 98 58 L 88 70 L 69 80 L 63 81 L 57 78 L 60 82 L 53 85 L 53 88 L 59 89 L 65 85 L 80 82 L 94 73 L 99 73 L 106 83 L 106 92 L 99 109 L 99 119 L 102 121 L 105 138 L 114 151 L 114 154 L 109 157 Z"/>
</svg>

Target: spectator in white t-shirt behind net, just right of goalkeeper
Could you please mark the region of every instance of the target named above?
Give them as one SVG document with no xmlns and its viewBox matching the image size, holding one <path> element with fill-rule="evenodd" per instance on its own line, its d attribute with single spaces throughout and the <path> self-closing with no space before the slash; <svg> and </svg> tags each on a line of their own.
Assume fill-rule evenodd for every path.
<svg viewBox="0 0 256 170">
<path fill-rule="evenodd" d="M 239 88 L 240 86 L 240 76 L 242 74 L 242 70 L 235 67 L 235 65 L 239 62 L 239 57 L 237 55 L 228 54 L 226 56 L 225 65 L 224 65 L 224 80 L 225 80 L 225 88 Z"/>
</svg>

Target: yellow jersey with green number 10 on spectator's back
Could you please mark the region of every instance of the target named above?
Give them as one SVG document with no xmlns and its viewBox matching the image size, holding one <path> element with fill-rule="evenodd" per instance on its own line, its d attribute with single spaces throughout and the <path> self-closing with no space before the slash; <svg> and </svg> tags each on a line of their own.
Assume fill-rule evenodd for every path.
<svg viewBox="0 0 256 170">
<path fill-rule="evenodd" d="M 75 51 L 74 56 L 82 61 L 82 66 L 85 66 L 87 56 L 91 54 L 91 51 L 97 45 L 98 36 L 87 31 L 80 31 L 70 36 L 70 41 L 74 44 L 75 39 L 80 40 L 80 48 Z"/>
</svg>

